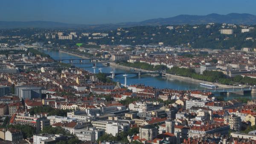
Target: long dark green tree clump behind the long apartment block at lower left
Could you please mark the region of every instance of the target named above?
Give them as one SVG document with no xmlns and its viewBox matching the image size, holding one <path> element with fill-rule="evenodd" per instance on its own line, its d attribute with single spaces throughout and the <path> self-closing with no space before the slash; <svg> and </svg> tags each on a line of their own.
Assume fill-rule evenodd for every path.
<svg viewBox="0 0 256 144">
<path fill-rule="evenodd" d="M 71 111 L 70 109 L 54 109 L 49 106 L 33 107 L 29 110 L 31 115 L 47 112 L 48 115 L 58 115 L 58 116 L 67 116 L 67 112 L 70 112 L 70 111 Z"/>
</svg>

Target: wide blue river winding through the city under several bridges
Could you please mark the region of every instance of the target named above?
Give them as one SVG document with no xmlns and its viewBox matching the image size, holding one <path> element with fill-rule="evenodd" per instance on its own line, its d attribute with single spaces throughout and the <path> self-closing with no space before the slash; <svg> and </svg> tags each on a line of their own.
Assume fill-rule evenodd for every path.
<svg viewBox="0 0 256 144">
<path fill-rule="evenodd" d="M 65 52 L 60 51 L 53 51 L 53 50 L 41 50 L 41 52 L 44 52 L 48 55 L 50 55 L 53 59 L 70 59 L 70 58 L 79 58 L 76 55 L 70 55 Z M 88 70 L 90 72 L 93 72 L 93 63 L 89 63 L 89 60 L 83 60 L 84 63 L 79 63 L 79 60 L 73 60 L 73 65 L 76 67 Z M 64 60 L 63 63 L 69 63 L 68 60 Z M 96 73 L 99 72 L 99 68 L 102 68 L 102 72 L 109 73 L 111 71 L 114 72 L 129 72 L 128 69 L 122 69 L 120 67 L 116 66 L 106 66 L 103 63 L 96 63 Z M 124 84 L 125 78 L 122 75 L 116 75 L 113 79 L 114 81 L 119 81 L 121 84 Z M 169 78 L 169 77 L 162 77 L 160 75 L 154 74 L 154 75 L 132 75 L 129 74 L 127 76 L 127 85 L 130 84 L 145 84 L 146 86 L 154 86 L 156 88 L 169 88 L 169 89 L 177 89 L 177 90 L 186 90 L 186 89 L 204 89 L 203 86 L 200 86 L 196 82 L 192 81 L 184 81 L 177 78 Z M 241 95 L 235 95 L 231 94 L 230 96 L 227 95 L 221 95 L 224 96 L 224 99 L 233 99 L 241 97 Z M 250 95 L 246 94 L 242 96 L 243 98 L 252 98 L 256 99 L 256 95 Z"/>
</svg>

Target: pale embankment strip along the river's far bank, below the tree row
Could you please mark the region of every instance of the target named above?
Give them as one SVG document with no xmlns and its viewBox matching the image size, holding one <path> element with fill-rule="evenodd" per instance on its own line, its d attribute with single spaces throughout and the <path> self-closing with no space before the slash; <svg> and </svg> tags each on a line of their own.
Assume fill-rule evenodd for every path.
<svg viewBox="0 0 256 144">
<path fill-rule="evenodd" d="M 133 68 L 133 67 L 129 67 L 129 66 L 122 66 L 116 63 L 111 62 L 110 63 L 111 66 L 116 66 L 122 69 L 126 69 L 126 70 L 130 70 L 130 69 L 137 69 L 137 68 Z M 154 72 L 154 71 L 150 71 L 150 70 L 145 70 L 145 69 L 137 69 L 137 70 L 142 70 L 145 72 Z M 180 75 L 172 75 L 172 74 L 168 74 L 166 73 L 166 77 L 170 77 L 170 78 L 176 78 L 180 81 L 192 81 L 192 82 L 196 82 L 196 83 L 205 83 L 205 84 L 212 84 L 209 81 L 202 81 L 202 80 L 197 80 L 194 78 L 189 78 L 189 77 L 184 77 L 184 76 L 180 76 Z M 214 85 L 218 86 L 219 88 L 233 88 L 233 86 L 230 85 L 225 85 L 225 84 L 219 84 L 219 83 L 213 83 Z M 240 86 L 234 86 L 234 88 L 241 88 Z"/>
</svg>

